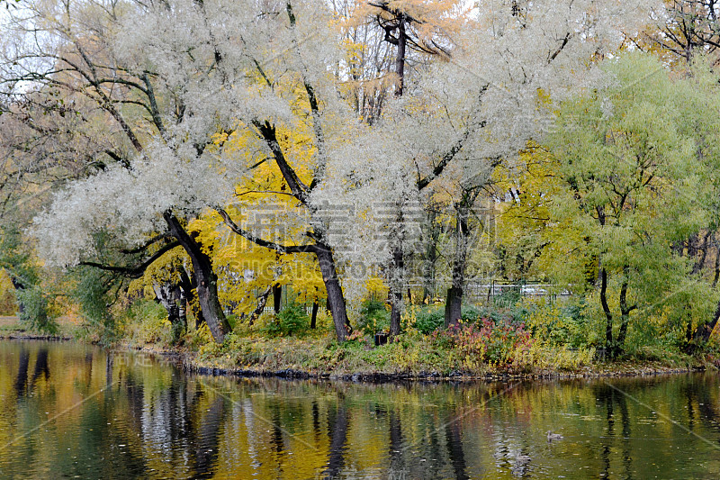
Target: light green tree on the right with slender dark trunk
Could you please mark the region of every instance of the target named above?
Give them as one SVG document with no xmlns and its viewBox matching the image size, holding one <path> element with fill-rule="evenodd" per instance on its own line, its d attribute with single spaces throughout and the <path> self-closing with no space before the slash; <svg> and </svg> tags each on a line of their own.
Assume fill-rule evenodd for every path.
<svg viewBox="0 0 720 480">
<path fill-rule="evenodd" d="M 549 139 L 565 184 L 551 207 L 555 235 L 578 241 L 562 249 L 558 240 L 546 253 L 563 285 L 580 291 L 587 259 L 597 260 L 593 286 L 606 321 L 605 348 L 615 358 L 625 349 L 633 312 L 648 315 L 671 304 L 689 283 L 698 293 L 689 262 L 672 247 L 706 216 L 693 208 L 702 188 L 698 136 L 686 108 L 694 103 L 692 84 L 671 81 L 661 64 L 642 55 L 607 61 L 605 71 L 594 92 L 563 104 Z"/>
</svg>

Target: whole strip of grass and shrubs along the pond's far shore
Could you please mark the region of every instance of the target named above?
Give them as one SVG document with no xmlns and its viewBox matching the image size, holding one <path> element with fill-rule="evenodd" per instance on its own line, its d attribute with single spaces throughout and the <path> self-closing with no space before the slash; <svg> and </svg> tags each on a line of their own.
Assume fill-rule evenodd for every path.
<svg viewBox="0 0 720 480">
<path fill-rule="evenodd" d="M 93 334 L 73 318 L 58 320 L 58 335 L 121 344 L 130 349 L 179 353 L 184 365 L 201 373 L 339 378 L 563 377 L 631 376 L 712 369 L 720 355 L 709 346 L 696 355 L 673 347 L 667 337 L 655 343 L 630 343 L 614 361 L 602 357 L 598 337 L 573 305 L 534 308 L 527 303 L 491 309 L 468 307 L 459 326 L 442 327 L 441 307 L 411 307 L 404 332 L 376 346 L 374 332 L 386 328 L 383 303 L 367 304 L 350 340 L 335 340 L 331 319 L 320 315 L 311 329 L 295 305 L 279 315 L 264 314 L 248 325 L 230 317 L 233 331 L 224 343 L 211 340 L 207 326 L 191 327 L 172 338 L 166 313 L 154 302 L 133 304 L 115 325 L 112 339 Z M 32 338 L 39 332 L 14 317 L 0 318 L 0 337 Z"/>
</svg>

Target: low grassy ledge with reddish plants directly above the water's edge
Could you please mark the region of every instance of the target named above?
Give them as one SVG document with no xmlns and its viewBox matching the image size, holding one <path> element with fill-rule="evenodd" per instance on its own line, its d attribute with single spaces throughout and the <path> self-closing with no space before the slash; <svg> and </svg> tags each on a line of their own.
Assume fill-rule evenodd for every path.
<svg viewBox="0 0 720 480">
<path fill-rule="evenodd" d="M 715 368 L 701 356 L 634 356 L 606 362 L 597 358 L 593 349 L 537 343 L 517 352 L 510 362 L 493 362 L 413 334 L 375 347 L 356 340 L 338 344 L 330 335 L 266 339 L 236 333 L 222 345 L 207 344 L 183 352 L 186 365 L 201 372 L 217 369 L 220 373 L 287 375 L 289 370 L 291 375 L 330 377 L 616 376 Z"/>
</svg>

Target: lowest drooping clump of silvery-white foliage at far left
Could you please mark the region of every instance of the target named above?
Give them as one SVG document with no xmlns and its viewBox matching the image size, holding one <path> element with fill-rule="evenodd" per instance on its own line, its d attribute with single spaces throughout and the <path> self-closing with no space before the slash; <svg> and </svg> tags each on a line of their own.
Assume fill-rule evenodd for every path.
<svg viewBox="0 0 720 480">
<path fill-rule="evenodd" d="M 115 166 L 74 182 L 34 221 L 31 233 L 42 239 L 40 256 L 50 265 L 76 265 L 97 253 L 98 231 L 112 231 L 122 243 L 139 245 L 164 230 L 165 212 L 192 215 L 208 205 L 227 203 L 238 179 L 221 174 L 219 159 L 179 157 L 156 141 L 131 169 Z"/>
</svg>

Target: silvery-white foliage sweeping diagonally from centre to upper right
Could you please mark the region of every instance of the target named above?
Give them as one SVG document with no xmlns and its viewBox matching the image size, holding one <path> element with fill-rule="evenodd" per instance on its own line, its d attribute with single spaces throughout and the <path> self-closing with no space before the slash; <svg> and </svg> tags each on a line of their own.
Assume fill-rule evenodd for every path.
<svg viewBox="0 0 720 480">
<path fill-rule="evenodd" d="M 407 218 L 420 200 L 420 178 L 462 143 L 442 175 L 457 186 L 486 183 L 493 161 L 515 158 L 527 140 L 541 140 L 552 129 L 554 106 L 547 101 L 562 101 L 593 85 L 597 60 L 616 50 L 624 34 L 641 29 L 661 5 L 653 0 L 478 2 L 474 22 L 455 39 L 452 58 L 421 71 L 405 94 L 386 106 L 381 122 L 358 128 L 329 157 L 330 175 L 314 202 L 352 204 L 358 213 L 347 222 L 343 239 L 353 248 L 333 244 L 339 257 L 346 264 L 387 265 L 394 244 L 412 249 Z M 377 204 L 392 213 L 373 218 Z M 402 281 L 388 280 L 391 286 Z M 365 278 L 350 276 L 345 282 L 352 296 L 362 292 Z"/>
</svg>

